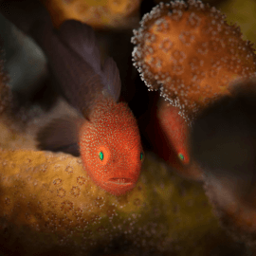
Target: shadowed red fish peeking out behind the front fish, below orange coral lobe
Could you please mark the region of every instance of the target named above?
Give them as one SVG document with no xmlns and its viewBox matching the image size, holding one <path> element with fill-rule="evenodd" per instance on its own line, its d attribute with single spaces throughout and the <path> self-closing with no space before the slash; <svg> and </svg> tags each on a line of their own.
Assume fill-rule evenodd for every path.
<svg viewBox="0 0 256 256">
<path fill-rule="evenodd" d="M 179 108 L 155 95 L 149 111 L 150 117 L 144 117 L 139 123 L 155 154 L 163 158 L 178 174 L 202 180 L 202 170 L 192 161 L 189 152 L 190 127 L 179 115 L 179 111 Z"/>
</svg>

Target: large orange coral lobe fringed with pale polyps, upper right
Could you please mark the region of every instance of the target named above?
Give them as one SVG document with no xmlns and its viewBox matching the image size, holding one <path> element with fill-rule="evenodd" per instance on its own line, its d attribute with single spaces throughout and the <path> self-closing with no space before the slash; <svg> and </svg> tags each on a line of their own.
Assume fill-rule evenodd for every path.
<svg viewBox="0 0 256 256">
<path fill-rule="evenodd" d="M 141 79 L 188 120 L 229 94 L 230 82 L 255 76 L 254 50 L 240 28 L 199 0 L 160 4 L 144 15 L 134 34 Z"/>
</svg>

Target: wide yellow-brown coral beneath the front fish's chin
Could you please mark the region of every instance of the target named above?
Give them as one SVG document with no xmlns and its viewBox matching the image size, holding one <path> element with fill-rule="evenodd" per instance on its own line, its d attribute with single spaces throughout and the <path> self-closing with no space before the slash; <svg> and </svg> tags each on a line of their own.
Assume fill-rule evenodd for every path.
<svg viewBox="0 0 256 256">
<path fill-rule="evenodd" d="M 133 255 L 210 255 L 230 243 L 200 185 L 170 174 L 151 155 L 144 163 L 136 188 L 116 197 L 90 180 L 78 157 L 1 150 L 0 251 L 110 253 L 118 241 L 120 253 Z"/>
</svg>

